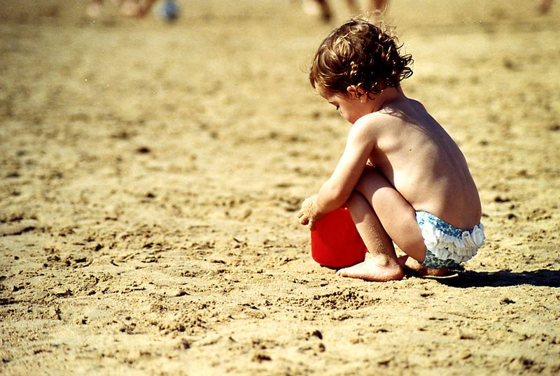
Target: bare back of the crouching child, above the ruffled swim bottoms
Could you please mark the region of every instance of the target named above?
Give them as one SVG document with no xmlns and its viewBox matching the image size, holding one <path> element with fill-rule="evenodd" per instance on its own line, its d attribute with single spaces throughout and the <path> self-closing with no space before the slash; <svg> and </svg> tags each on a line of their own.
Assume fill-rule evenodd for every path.
<svg viewBox="0 0 560 376">
<path fill-rule="evenodd" d="M 479 224 L 482 209 L 465 157 L 421 103 L 400 96 L 363 120 L 376 138 L 370 161 L 414 210 L 459 229 Z"/>
</svg>

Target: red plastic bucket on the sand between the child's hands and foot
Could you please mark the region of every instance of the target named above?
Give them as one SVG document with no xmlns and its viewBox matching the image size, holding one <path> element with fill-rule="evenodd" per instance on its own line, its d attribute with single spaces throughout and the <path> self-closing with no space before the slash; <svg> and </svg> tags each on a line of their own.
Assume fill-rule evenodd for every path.
<svg viewBox="0 0 560 376">
<path fill-rule="evenodd" d="M 322 266 L 344 268 L 365 259 L 367 248 L 346 208 L 332 210 L 311 231 L 311 256 Z"/>
</svg>

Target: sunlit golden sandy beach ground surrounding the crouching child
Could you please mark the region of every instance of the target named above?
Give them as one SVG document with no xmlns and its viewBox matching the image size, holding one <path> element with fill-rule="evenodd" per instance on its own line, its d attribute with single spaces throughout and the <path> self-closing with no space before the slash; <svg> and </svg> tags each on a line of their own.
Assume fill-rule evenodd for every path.
<svg viewBox="0 0 560 376">
<path fill-rule="evenodd" d="M 335 5 L 0 1 L 1 374 L 560 373 L 560 3 L 391 2 L 487 240 L 386 283 L 318 266 L 297 224 L 349 131 L 307 80 Z"/>
</svg>

